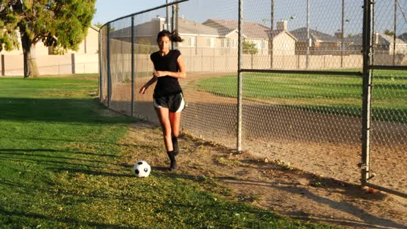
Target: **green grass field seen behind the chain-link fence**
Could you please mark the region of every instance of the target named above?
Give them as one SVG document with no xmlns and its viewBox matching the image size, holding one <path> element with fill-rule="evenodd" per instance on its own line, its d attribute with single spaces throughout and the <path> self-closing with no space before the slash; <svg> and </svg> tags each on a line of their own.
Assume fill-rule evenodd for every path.
<svg viewBox="0 0 407 229">
<path fill-rule="evenodd" d="M 373 119 L 407 121 L 407 71 L 375 70 Z M 199 79 L 199 90 L 237 97 L 237 75 Z M 361 116 L 361 77 L 308 74 L 243 74 L 243 97 L 281 106 Z"/>
</svg>

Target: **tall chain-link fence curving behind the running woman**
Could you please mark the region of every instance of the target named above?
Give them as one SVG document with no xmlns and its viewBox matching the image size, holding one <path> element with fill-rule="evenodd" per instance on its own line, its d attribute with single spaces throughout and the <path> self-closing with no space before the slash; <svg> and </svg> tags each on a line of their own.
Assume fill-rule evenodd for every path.
<svg viewBox="0 0 407 229">
<path fill-rule="evenodd" d="M 101 28 L 101 101 L 157 122 L 154 86 L 138 91 L 157 33 L 177 29 L 183 131 L 342 181 L 359 183 L 362 169 L 362 183 L 405 195 L 406 10 L 407 0 L 189 0 L 132 14 Z"/>
</svg>

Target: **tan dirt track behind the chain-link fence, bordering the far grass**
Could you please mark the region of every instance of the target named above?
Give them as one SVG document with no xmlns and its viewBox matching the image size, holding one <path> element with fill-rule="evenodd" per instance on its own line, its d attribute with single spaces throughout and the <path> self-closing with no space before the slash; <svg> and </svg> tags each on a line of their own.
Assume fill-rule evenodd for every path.
<svg viewBox="0 0 407 229">
<path fill-rule="evenodd" d="M 203 92 L 197 86 L 199 79 L 225 74 L 194 72 L 181 81 L 188 101 L 181 127 L 195 137 L 236 148 L 237 99 Z M 146 80 L 137 79 L 136 84 Z M 137 97 L 135 115 L 157 121 L 151 105 L 152 88 Z M 113 92 L 111 107 L 130 115 L 130 84 L 119 83 Z M 279 159 L 304 171 L 359 183 L 360 118 L 268 104 L 271 102 L 244 99 L 244 151 L 253 157 Z M 406 193 L 407 124 L 373 121 L 372 130 L 370 169 L 377 176 L 370 182 Z"/>
</svg>

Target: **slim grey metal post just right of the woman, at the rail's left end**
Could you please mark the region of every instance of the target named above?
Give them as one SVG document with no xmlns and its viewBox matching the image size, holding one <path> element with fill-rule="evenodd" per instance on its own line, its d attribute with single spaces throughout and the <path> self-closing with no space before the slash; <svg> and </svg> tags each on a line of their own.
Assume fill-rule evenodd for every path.
<svg viewBox="0 0 407 229">
<path fill-rule="evenodd" d="M 237 151 L 241 152 L 241 117 L 242 117 L 242 74 L 241 65 L 243 63 L 241 56 L 243 54 L 243 31 L 241 23 L 243 21 L 243 0 L 239 0 L 239 51 L 237 53 Z"/>
</svg>

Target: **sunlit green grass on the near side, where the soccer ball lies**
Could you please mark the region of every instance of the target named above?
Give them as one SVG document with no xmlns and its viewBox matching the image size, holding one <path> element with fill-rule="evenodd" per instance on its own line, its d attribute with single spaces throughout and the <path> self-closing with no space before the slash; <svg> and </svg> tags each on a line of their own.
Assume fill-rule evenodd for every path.
<svg viewBox="0 0 407 229">
<path fill-rule="evenodd" d="M 330 228 L 167 172 L 133 177 L 119 141 L 135 119 L 103 115 L 98 83 L 0 77 L 1 228 Z"/>
</svg>

